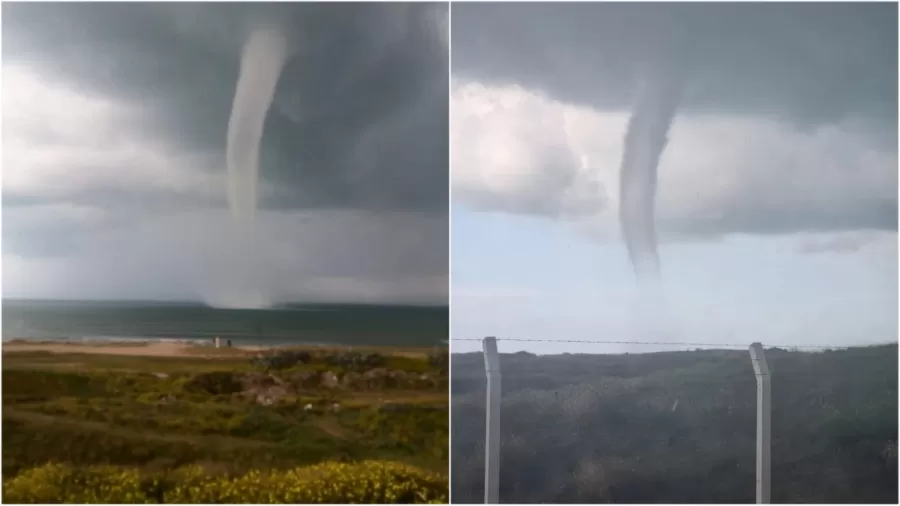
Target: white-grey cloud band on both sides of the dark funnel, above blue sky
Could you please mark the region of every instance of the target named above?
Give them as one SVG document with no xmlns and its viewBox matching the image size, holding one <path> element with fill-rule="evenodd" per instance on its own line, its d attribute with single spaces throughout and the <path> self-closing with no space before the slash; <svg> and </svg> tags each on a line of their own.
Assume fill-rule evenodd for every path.
<svg viewBox="0 0 900 506">
<path fill-rule="evenodd" d="M 451 108 L 454 200 L 617 237 L 627 112 L 475 82 L 456 83 Z M 853 229 L 891 219 L 897 172 L 896 151 L 850 120 L 802 131 L 763 118 L 681 115 L 660 163 L 657 221 L 664 239 Z"/>
</svg>

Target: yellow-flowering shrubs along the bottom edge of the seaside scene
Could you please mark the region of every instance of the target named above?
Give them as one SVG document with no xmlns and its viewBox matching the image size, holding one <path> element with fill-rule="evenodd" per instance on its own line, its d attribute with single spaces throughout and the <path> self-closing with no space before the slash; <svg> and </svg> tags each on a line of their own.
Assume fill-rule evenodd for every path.
<svg viewBox="0 0 900 506">
<path fill-rule="evenodd" d="M 447 479 L 405 464 L 325 463 L 213 475 L 199 466 L 146 473 L 47 464 L 3 483 L 10 503 L 446 503 Z"/>
</svg>

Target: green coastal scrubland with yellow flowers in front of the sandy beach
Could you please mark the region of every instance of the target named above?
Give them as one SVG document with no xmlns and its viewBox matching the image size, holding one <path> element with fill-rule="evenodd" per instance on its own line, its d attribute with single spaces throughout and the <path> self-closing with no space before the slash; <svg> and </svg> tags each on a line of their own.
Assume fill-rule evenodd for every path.
<svg viewBox="0 0 900 506">
<path fill-rule="evenodd" d="M 148 492 L 147 483 L 162 479 L 160 472 L 196 465 L 207 477 L 184 471 L 196 475 L 184 483 L 199 483 L 202 490 L 178 488 L 182 482 L 175 480 L 165 489 L 166 501 L 389 501 L 395 495 L 388 489 L 403 501 L 445 497 L 447 361 L 437 357 L 446 357 L 446 351 L 382 352 L 380 358 L 370 352 L 368 361 L 358 355 L 317 350 L 297 355 L 301 359 L 287 367 L 268 367 L 242 353 L 216 358 L 5 353 L 4 500 L 78 502 L 73 498 L 96 498 L 90 494 L 100 489 L 113 494 L 108 487 L 88 487 L 96 471 L 119 480 L 114 489 L 133 494 L 111 495 L 109 501 L 156 502 L 160 496 Z M 364 461 L 369 462 L 347 466 Z M 326 462 L 331 467 L 298 471 Z M 50 463 L 55 467 L 45 467 Z M 354 470 L 360 477 L 346 478 L 341 487 L 349 488 L 339 490 L 357 495 L 337 499 L 329 494 L 339 491 L 313 491 L 320 474 Z M 396 481 L 379 482 L 376 475 Z M 43 492 L 29 489 L 40 477 L 56 481 L 48 481 Z M 265 485 L 247 485 L 253 480 Z M 81 492 L 73 485 L 78 483 L 85 484 Z M 246 485 L 249 495 L 240 500 L 227 495 L 229 483 Z M 271 501 L 263 492 L 269 488 L 275 490 Z M 53 500 L 34 495 L 53 491 L 64 494 Z"/>
</svg>

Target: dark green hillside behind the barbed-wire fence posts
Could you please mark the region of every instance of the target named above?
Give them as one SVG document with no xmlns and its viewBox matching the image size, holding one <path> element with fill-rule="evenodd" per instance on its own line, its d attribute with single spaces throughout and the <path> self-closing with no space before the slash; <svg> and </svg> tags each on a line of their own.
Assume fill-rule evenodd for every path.
<svg viewBox="0 0 900 506">
<path fill-rule="evenodd" d="M 772 502 L 897 503 L 897 345 L 767 351 Z M 501 356 L 503 502 L 752 503 L 745 350 Z M 454 502 L 479 502 L 484 361 L 453 356 Z"/>
</svg>

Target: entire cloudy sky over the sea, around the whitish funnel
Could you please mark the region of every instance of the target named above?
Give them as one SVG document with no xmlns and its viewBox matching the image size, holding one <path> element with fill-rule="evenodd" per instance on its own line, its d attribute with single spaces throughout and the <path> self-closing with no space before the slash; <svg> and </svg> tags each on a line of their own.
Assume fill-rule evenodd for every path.
<svg viewBox="0 0 900 506">
<path fill-rule="evenodd" d="M 4 297 L 445 302 L 446 4 L 3 5 Z M 242 44 L 294 56 L 236 247 Z"/>
</svg>

